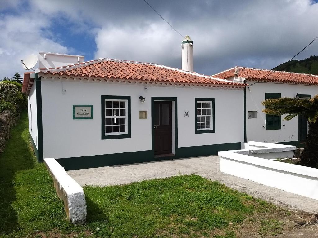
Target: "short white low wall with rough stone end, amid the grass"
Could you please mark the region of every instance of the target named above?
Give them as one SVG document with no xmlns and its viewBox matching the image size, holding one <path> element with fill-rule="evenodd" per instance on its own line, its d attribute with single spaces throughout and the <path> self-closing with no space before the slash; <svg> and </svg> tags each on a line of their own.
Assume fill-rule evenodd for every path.
<svg viewBox="0 0 318 238">
<path fill-rule="evenodd" d="M 83 188 L 65 172 L 54 158 L 46 158 L 44 163 L 53 178 L 56 193 L 64 203 L 67 217 L 75 224 L 84 224 L 86 222 L 86 200 Z"/>
</svg>

